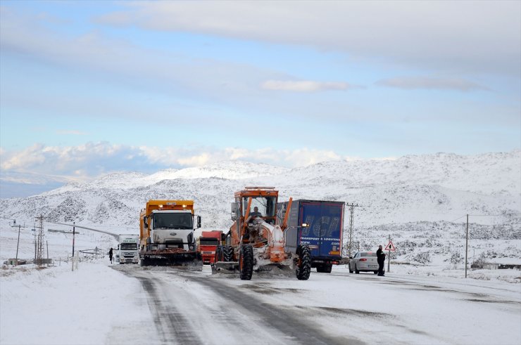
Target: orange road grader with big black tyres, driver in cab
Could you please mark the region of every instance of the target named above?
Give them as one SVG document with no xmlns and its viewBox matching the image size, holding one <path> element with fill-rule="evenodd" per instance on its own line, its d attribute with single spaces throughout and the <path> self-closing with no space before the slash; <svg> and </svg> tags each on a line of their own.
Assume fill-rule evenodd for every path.
<svg viewBox="0 0 521 345">
<path fill-rule="evenodd" d="M 222 245 L 215 250 L 212 273 L 239 271 L 241 280 L 251 280 L 253 271 L 291 269 L 299 280 L 308 280 L 311 254 L 307 245 L 295 252 L 286 247 L 284 230 L 289 212 L 277 219 L 278 190 L 274 187 L 246 187 L 235 193 L 230 231 L 222 234 Z M 287 209 L 291 209 L 291 199 Z"/>
</svg>

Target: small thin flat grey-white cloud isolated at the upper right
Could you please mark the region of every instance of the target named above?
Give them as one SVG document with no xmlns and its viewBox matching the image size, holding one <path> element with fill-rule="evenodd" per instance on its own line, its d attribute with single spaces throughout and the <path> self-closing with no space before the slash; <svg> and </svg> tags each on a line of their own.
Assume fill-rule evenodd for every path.
<svg viewBox="0 0 521 345">
<path fill-rule="evenodd" d="M 398 77 L 382 79 L 377 84 L 398 89 L 487 90 L 484 86 L 458 78 Z"/>
</svg>

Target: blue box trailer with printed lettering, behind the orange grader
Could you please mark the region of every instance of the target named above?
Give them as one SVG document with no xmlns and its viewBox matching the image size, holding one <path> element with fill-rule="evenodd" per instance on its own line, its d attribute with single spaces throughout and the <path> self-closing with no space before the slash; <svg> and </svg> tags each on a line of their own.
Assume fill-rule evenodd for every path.
<svg viewBox="0 0 521 345">
<path fill-rule="evenodd" d="M 288 202 L 281 202 L 277 220 L 282 223 Z M 286 246 L 296 252 L 299 245 L 311 249 L 311 267 L 317 272 L 330 273 L 333 264 L 341 260 L 344 233 L 345 202 L 325 200 L 294 200 L 289 210 L 288 228 L 284 232 Z M 306 226 L 302 226 L 302 224 Z"/>
</svg>

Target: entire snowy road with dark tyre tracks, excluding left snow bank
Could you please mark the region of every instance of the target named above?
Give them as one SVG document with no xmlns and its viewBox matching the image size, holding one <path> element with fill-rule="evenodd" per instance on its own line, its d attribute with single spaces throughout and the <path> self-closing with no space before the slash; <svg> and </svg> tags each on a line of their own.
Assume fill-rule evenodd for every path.
<svg viewBox="0 0 521 345">
<path fill-rule="evenodd" d="M 520 344 L 521 286 L 312 273 L 241 281 L 114 266 L 139 279 L 163 344 Z"/>
</svg>

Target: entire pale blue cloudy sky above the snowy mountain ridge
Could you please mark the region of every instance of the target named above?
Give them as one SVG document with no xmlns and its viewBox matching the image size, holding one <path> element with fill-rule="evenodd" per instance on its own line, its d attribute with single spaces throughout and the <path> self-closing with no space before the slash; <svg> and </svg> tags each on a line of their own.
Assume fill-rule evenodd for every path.
<svg viewBox="0 0 521 345">
<path fill-rule="evenodd" d="M 521 146 L 521 1 L 0 2 L 0 197 Z"/>
</svg>

